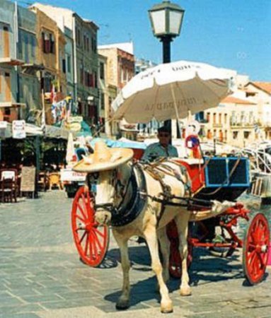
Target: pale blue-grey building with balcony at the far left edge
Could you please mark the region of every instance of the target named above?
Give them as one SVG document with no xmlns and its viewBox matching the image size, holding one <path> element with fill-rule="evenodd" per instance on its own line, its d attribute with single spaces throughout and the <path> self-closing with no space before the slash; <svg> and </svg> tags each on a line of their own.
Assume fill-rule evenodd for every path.
<svg viewBox="0 0 271 318">
<path fill-rule="evenodd" d="M 0 120 L 27 119 L 40 107 L 39 81 L 28 67 L 36 63 L 35 15 L 0 0 Z"/>
</svg>

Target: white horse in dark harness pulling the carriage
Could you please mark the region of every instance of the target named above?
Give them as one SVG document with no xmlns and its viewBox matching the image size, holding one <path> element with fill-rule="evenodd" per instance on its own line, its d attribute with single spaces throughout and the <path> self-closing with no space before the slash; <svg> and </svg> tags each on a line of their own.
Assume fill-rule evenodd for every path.
<svg viewBox="0 0 271 318">
<path fill-rule="evenodd" d="M 185 189 L 185 184 L 188 182 L 188 177 L 185 172 L 180 170 L 180 167 L 172 161 L 165 161 L 156 166 L 156 172 L 163 175 L 163 182 L 158 181 L 155 173 L 148 171 L 148 165 L 143 166 L 144 179 L 146 180 L 146 193 L 141 193 L 142 189 L 134 189 L 133 168 L 131 163 L 125 163 L 116 167 L 115 170 L 100 171 L 96 175 L 96 196 L 95 206 L 96 221 L 100 224 L 113 225 L 113 235 L 120 247 L 121 264 L 123 271 L 123 285 L 122 294 L 117 300 L 117 309 L 124 310 L 129 307 L 129 257 L 127 242 L 133 235 L 144 237 L 146 244 L 149 247 L 151 254 L 151 267 L 156 273 L 158 280 L 159 291 L 161 294 L 161 312 L 172 312 L 173 304 L 168 295 L 168 288 L 166 281 L 168 281 L 169 273 L 169 253 L 170 242 L 166 235 L 166 225 L 175 220 L 179 235 L 179 251 L 182 259 L 182 276 L 180 283 L 180 295 L 187 296 L 191 294 L 188 269 L 188 221 L 195 217 L 195 214 L 188 211 L 185 207 L 180 206 L 163 206 L 161 201 L 156 199 L 165 199 L 163 192 L 163 184 L 169 188 L 171 198 L 173 196 L 188 196 Z M 137 179 L 137 187 L 139 186 L 139 170 L 134 176 Z M 137 196 L 135 196 L 137 193 Z M 156 199 L 154 199 L 156 198 Z M 131 204 L 138 206 L 131 208 Z M 172 202 L 177 202 L 178 199 L 171 199 Z M 205 211 L 207 217 L 222 213 L 228 208 L 230 204 L 221 204 L 214 201 L 212 209 Z M 117 208 L 117 210 L 116 210 Z M 122 225 L 114 225 L 114 218 L 118 220 L 123 218 L 129 221 L 128 210 L 134 209 L 136 218 L 129 223 Z M 115 211 L 115 212 L 114 212 Z M 117 213 L 116 211 L 119 211 Z M 194 215 L 194 216 L 193 216 Z M 204 218 L 206 218 L 206 216 Z M 160 241 L 161 253 L 163 256 L 163 267 L 158 254 L 158 240 Z"/>
</svg>

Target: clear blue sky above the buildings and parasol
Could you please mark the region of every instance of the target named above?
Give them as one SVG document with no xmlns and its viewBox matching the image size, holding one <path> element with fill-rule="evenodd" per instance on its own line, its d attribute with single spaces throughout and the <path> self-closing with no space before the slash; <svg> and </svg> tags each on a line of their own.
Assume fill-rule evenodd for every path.
<svg viewBox="0 0 271 318">
<path fill-rule="evenodd" d="M 23 0 L 30 1 L 30 0 Z M 40 0 L 71 8 L 98 26 L 98 45 L 134 43 L 134 54 L 162 62 L 162 44 L 152 34 L 153 0 Z M 185 9 L 171 61 L 209 63 L 271 82 L 271 0 L 174 0 Z M 18 1 L 18 4 L 23 2 Z"/>
</svg>

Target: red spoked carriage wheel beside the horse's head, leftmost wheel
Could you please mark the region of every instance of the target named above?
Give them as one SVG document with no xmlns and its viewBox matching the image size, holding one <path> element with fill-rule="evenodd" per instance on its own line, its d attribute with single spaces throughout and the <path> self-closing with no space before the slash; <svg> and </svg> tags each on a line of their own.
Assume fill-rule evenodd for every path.
<svg viewBox="0 0 271 318">
<path fill-rule="evenodd" d="M 86 187 L 80 187 L 74 197 L 71 228 L 83 263 L 92 267 L 99 266 L 108 251 L 109 229 L 95 222 L 93 199 Z"/>
</svg>

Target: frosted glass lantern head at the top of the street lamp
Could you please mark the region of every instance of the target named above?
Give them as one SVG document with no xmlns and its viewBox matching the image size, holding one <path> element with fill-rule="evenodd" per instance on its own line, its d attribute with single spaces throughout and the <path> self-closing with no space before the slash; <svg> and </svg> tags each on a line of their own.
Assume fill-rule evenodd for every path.
<svg viewBox="0 0 271 318">
<path fill-rule="evenodd" d="M 177 37 L 180 35 L 184 13 L 183 8 L 177 4 L 171 4 L 170 1 L 163 1 L 162 4 L 153 6 L 149 10 L 149 18 L 154 36 L 170 35 L 171 37 Z"/>
</svg>

